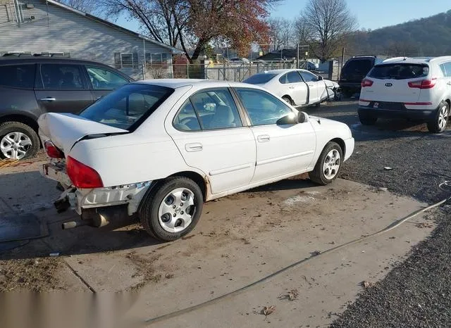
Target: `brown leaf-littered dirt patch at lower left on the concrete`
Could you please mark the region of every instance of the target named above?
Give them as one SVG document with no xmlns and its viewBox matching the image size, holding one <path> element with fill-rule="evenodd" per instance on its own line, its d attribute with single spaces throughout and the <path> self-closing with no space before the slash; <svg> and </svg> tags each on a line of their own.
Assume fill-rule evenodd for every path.
<svg viewBox="0 0 451 328">
<path fill-rule="evenodd" d="M 0 292 L 66 290 L 59 281 L 59 258 L 0 260 Z"/>
</svg>

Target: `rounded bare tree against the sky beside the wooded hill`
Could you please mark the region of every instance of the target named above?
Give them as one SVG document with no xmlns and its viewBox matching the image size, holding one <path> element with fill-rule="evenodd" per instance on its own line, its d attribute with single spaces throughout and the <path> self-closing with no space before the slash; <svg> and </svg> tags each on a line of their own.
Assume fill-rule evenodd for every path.
<svg viewBox="0 0 451 328">
<path fill-rule="evenodd" d="M 321 62 L 338 56 L 357 20 L 345 0 L 309 0 L 297 20 L 297 32 Z"/>
</svg>

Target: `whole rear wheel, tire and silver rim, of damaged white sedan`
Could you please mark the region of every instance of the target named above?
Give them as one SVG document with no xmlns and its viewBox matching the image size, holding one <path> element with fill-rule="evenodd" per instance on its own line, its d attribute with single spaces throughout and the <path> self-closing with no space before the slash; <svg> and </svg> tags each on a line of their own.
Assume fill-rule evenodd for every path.
<svg viewBox="0 0 451 328">
<path fill-rule="evenodd" d="M 202 191 L 196 182 L 187 177 L 170 177 L 144 197 L 140 220 L 151 236 L 173 241 L 194 229 L 203 205 Z"/>
</svg>

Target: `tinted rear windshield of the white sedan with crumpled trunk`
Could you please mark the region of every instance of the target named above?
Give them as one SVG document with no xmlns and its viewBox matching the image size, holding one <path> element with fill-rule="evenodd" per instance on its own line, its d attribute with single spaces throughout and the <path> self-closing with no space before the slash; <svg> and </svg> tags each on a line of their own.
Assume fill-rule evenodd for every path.
<svg viewBox="0 0 451 328">
<path fill-rule="evenodd" d="M 79 115 L 111 127 L 135 130 L 174 89 L 149 84 L 126 84 L 89 106 Z"/>
</svg>

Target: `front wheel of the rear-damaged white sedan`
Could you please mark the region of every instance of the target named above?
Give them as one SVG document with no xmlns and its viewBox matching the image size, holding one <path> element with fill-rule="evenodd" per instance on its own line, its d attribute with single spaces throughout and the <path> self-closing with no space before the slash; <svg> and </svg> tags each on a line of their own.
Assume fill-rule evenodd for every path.
<svg viewBox="0 0 451 328">
<path fill-rule="evenodd" d="M 316 162 L 313 171 L 309 172 L 311 181 L 325 186 L 338 177 L 341 169 L 343 151 L 336 142 L 330 141 L 326 144 Z"/>
</svg>

